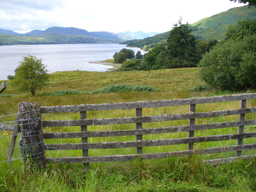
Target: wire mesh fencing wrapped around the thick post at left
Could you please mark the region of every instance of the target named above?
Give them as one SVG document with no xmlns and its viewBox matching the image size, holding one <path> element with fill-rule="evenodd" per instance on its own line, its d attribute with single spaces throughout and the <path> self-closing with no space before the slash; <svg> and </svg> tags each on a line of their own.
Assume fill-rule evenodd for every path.
<svg viewBox="0 0 256 192">
<path fill-rule="evenodd" d="M 38 139 L 38 137 L 43 138 L 42 118 L 16 118 L 13 120 L 15 117 L 20 117 L 21 114 L 30 112 L 32 111 L 0 116 L 0 164 L 20 160 L 20 163 L 23 162 L 28 167 L 38 166 L 45 161 L 44 149 L 47 149 L 48 156 L 51 158 L 44 140 Z M 36 124 L 40 124 L 40 129 L 35 130 Z M 43 150 L 38 150 L 39 148 L 43 148 Z"/>
</svg>

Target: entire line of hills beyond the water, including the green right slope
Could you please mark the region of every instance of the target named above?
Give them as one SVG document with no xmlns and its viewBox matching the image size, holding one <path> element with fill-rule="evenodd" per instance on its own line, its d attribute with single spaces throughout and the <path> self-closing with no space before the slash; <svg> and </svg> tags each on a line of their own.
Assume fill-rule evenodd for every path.
<svg viewBox="0 0 256 192">
<path fill-rule="evenodd" d="M 226 12 L 201 19 L 194 24 L 190 24 L 190 26 L 196 39 L 220 40 L 225 38 L 226 28 L 229 25 L 237 24 L 238 20 L 246 18 L 256 20 L 256 8 L 248 8 L 247 5 L 232 8 Z M 169 33 L 170 31 L 161 34 L 141 31 L 119 33 L 88 32 L 74 27 L 50 27 L 46 30 L 32 30 L 21 34 L 12 30 L 0 29 L 0 45 L 122 43 L 128 46 L 143 48 L 146 45 L 148 48 L 152 48 L 156 44 L 165 42 Z"/>
</svg>

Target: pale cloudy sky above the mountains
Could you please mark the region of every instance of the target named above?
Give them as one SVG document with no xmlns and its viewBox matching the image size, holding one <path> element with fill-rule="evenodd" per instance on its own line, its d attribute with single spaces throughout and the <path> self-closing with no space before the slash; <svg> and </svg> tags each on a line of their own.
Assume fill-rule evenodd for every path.
<svg viewBox="0 0 256 192">
<path fill-rule="evenodd" d="M 0 0 L 0 28 L 25 33 L 49 27 L 167 32 L 180 16 L 194 23 L 233 7 L 229 0 Z"/>
</svg>

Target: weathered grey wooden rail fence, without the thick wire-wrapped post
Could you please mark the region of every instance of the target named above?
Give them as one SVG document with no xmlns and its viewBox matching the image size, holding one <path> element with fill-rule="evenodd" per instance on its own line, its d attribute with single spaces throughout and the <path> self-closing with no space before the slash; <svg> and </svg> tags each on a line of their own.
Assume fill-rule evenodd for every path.
<svg viewBox="0 0 256 192">
<path fill-rule="evenodd" d="M 160 100 L 160 101 L 145 101 L 145 102 L 130 102 L 130 103 L 113 103 L 113 104 L 85 104 L 74 106 L 50 106 L 40 107 L 40 113 L 64 113 L 64 112 L 80 112 L 80 119 L 77 120 L 44 120 L 42 119 L 42 127 L 62 127 L 62 126 L 80 126 L 80 132 L 48 132 L 43 133 L 44 139 L 59 139 L 59 138 L 82 138 L 81 143 L 60 143 L 46 144 L 46 150 L 82 150 L 81 157 L 58 157 L 46 158 L 46 162 L 56 163 L 84 163 L 88 166 L 90 162 L 110 162 L 110 161 L 126 161 L 133 160 L 140 156 L 142 159 L 166 158 L 169 156 L 190 156 L 193 154 L 214 154 L 222 152 L 236 151 L 235 157 L 209 160 L 211 164 L 220 164 L 237 160 L 238 158 L 248 159 L 256 155 L 242 156 L 242 150 L 256 149 L 256 142 L 253 144 L 243 144 L 244 138 L 255 138 L 256 132 L 244 132 L 244 126 L 256 125 L 255 116 L 252 120 L 245 120 L 245 114 L 255 113 L 256 107 L 246 108 L 246 100 L 256 99 L 256 94 L 240 94 L 230 96 L 218 96 L 208 98 L 189 98 L 177 100 Z M 240 100 L 240 108 L 232 110 L 196 112 L 196 104 L 229 102 Z M 34 104 L 32 104 L 34 105 Z M 182 106 L 189 105 L 189 111 L 186 114 L 164 114 L 157 116 L 143 116 L 143 108 L 167 107 L 167 106 Z M 98 110 L 123 110 L 135 109 L 136 116 L 122 118 L 105 118 L 105 119 L 89 119 L 86 118 L 86 112 Z M 31 110 L 31 109 L 30 109 Z M 212 118 L 220 116 L 239 115 L 237 121 L 218 122 L 211 124 L 195 124 L 195 120 L 199 118 Z M 20 119 L 22 121 L 22 119 Z M 172 120 L 188 120 L 188 125 L 143 128 L 144 123 L 148 122 L 163 122 Z M 136 129 L 129 130 L 106 130 L 106 131 L 87 131 L 87 126 L 96 125 L 115 125 L 115 124 L 136 124 Z M 236 134 L 211 135 L 196 137 L 194 131 L 210 130 L 218 128 L 238 127 Z M 174 132 L 188 132 L 187 138 L 168 138 L 159 140 L 143 140 L 143 135 L 146 134 L 164 134 Z M 98 142 L 90 143 L 88 138 L 94 137 L 115 137 L 115 136 L 136 136 L 134 141 L 124 142 Z M 194 143 L 237 140 L 234 146 L 222 146 L 217 148 L 194 149 Z M 143 147 L 151 146 L 166 146 L 176 144 L 187 144 L 187 150 L 159 152 L 159 153 L 143 153 Z M 113 149 L 113 148 L 136 148 L 136 154 L 126 155 L 108 155 L 108 156 L 89 156 L 88 150 L 92 149 Z M 12 154 L 11 154 L 12 155 Z M 10 156 L 11 156 L 10 155 Z"/>
</svg>

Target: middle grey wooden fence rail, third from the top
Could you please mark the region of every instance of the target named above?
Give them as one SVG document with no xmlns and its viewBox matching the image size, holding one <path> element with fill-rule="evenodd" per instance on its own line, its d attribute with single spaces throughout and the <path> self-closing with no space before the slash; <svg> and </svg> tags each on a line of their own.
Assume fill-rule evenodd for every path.
<svg viewBox="0 0 256 192">
<path fill-rule="evenodd" d="M 66 138 L 83 138 L 83 137 L 116 137 L 116 136 L 132 136 L 132 135 L 147 135 L 147 134 L 161 134 L 173 132 L 185 132 L 190 130 L 210 130 L 217 128 L 227 128 L 236 126 L 256 125 L 256 120 L 234 121 L 212 124 L 200 124 L 192 126 L 173 126 L 148 128 L 142 130 L 113 130 L 113 131 L 89 131 L 89 132 L 56 132 L 43 133 L 44 139 L 66 139 Z"/>
</svg>

